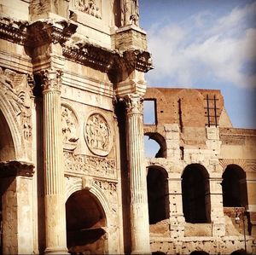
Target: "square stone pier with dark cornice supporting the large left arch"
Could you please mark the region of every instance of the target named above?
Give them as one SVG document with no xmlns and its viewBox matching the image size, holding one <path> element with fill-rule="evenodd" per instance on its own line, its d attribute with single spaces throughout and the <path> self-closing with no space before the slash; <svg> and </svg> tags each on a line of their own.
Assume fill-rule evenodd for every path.
<svg viewBox="0 0 256 255">
<path fill-rule="evenodd" d="M 31 210 L 33 173 L 31 162 L 13 160 L 0 163 L 3 254 L 34 252 Z"/>
</svg>

